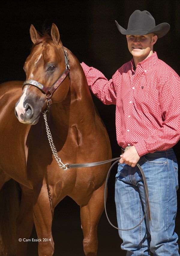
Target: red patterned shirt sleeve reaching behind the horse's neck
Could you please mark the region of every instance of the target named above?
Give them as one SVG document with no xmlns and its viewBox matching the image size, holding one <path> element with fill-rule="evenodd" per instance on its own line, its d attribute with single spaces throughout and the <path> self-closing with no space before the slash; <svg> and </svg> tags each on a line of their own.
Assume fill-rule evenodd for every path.
<svg viewBox="0 0 180 256">
<path fill-rule="evenodd" d="M 112 78 L 108 81 L 98 69 L 89 67 L 84 62 L 81 63 L 81 66 L 92 93 L 105 105 L 116 104 L 116 87 L 113 81 L 114 79 Z"/>
</svg>

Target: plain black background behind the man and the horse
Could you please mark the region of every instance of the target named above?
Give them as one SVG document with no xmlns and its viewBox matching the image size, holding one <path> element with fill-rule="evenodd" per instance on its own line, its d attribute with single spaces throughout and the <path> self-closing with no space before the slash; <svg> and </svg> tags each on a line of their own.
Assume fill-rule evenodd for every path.
<svg viewBox="0 0 180 256">
<path fill-rule="evenodd" d="M 55 23 L 61 41 L 80 62 L 99 69 L 110 79 L 116 70 L 131 59 L 126 38 L 116 27 L 115 20 L 125 29 L 133 11 L 149 11 L 156 24 L 167 22 L 171 29 L 166 36 L 158 39 L 154 46 L 158 57 L 170 65 L 179 75 L 180 43 L 180 1 L 1 1 L 1 76 L 0 82 L 25 80 L 23 64 L 30 53 L 32 42 L 29 36 L 31 24 L 37 30 Z M 116 142 L 115 106 L 105 106 L 93 96 L 95 105 L 103 119 L 111 141 L 113 157 L 120 154 Z M 179 143 L 175 147 L 180 164 Z M 113 169 L 109 180 L 107 208 L 111 220 L 116 224 Z M 178 198 L 180 192 L 178 191 Z M 178 204 L 179 205 L 179 204 Z M 179 207 L 180 208 L 180 207 Z M 180 210 L 178 208 L 176 232 L 180 234 Z M 55 240 L 54 255 L 83 255 L 82 231 L 80 228 L 79 206 L 66 197 L 55 209 L 52 225 Z M 33 230 L 32 237 L 35 237 Z M 120 249 L 118 232 L 102 215 L 99 228 L 98 255 L 125 255 Z M 37 254 L 37 243 L 29 243 L 29 255 Z"/>
</svg>

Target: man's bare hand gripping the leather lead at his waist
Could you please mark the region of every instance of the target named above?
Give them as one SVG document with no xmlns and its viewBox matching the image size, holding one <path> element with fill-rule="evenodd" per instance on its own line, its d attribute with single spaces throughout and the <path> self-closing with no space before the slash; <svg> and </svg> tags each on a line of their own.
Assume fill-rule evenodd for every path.
<svg viewBox="0 0 180 256">
<path fill-rule="evenodd" d="M 119 162 L 121 164 L 125 163 L 126 165 L 131 165 L 131 167 L 135 167 L 137 162 L 140 160 L 140 156 L 134 146 L 126 150 L 120 157 L 121 159 Z"/>
</svg>

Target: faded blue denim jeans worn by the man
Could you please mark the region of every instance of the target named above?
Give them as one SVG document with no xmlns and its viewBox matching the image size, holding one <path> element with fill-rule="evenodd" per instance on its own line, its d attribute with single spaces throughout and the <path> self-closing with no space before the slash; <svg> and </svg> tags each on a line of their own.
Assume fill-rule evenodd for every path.
<svg viewBox="0 0 180 256">
<path fill-rule="evenodd" d="M 130 231 L 119 231 L 121 248 L 130 255 L 176 256 L 178 236 L 174 232 L 177 213 L 178 164 L 173 149 L 142 156 L 138 162 L 146 176 L 151 221 L 146 219 Z M 146 200 L 138 167 L 118 165 L 115 184 L 118 227 L 129 229 L 143 218 Z"/>
</svg>

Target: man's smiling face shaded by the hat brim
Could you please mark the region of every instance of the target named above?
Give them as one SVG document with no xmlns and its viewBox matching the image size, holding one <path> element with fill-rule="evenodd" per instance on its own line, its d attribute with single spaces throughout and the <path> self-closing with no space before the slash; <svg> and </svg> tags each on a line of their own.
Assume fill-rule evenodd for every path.
<svg viewBox="0 0 180 256">
<path fill-rule="evenodd" d="M 158 37 L 154 34 L 147 35 L 126 35 L 128 49 L 137 58 L 146 58 L 153 50 L 153 45 Z"/>
</svg>

